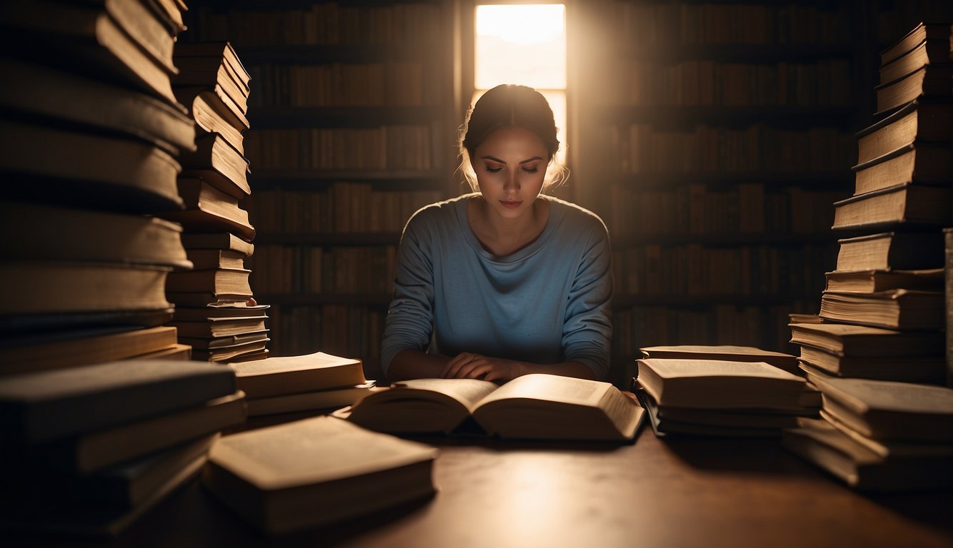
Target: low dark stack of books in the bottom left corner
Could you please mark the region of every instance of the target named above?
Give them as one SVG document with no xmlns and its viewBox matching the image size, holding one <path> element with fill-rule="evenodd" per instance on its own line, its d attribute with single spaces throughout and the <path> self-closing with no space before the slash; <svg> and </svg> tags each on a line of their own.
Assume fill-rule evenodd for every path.
<svg viewBox="0 0 953 548">
<path fill-rule="evenodd" d="M 0 417 L 2 526 L 98 537 L 194 478 L 245 403 L 228 367 L 121 361 L 5 377 Z"/>
</svg>

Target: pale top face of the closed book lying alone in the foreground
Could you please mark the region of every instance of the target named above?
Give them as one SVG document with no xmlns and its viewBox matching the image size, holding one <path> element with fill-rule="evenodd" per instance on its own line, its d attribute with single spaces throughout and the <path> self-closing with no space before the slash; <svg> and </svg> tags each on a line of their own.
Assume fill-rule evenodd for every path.
<svg viewBox="0 0 953 548">
<path fill-rule="evenodd" d="M 209 459 L 260 489 L 348 478 L 436 458 L 436 449 L 315 417 L 226 436 Z"/>
</svg>

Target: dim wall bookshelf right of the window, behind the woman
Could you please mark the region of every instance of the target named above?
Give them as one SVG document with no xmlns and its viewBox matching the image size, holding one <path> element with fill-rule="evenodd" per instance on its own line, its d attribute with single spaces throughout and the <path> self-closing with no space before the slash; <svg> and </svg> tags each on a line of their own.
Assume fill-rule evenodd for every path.
<svg viewBox="0 0 953 548">
<path fill-rule="evenodd" d="M 850 195 L 864 50 L 851 2 L 599 1 L 581 64 L 579 202 L 609 227 L 613 382 L 639 346 L 792 352 Z M 600 82 L 598 89 L 586 82 Z"/>
</svg>

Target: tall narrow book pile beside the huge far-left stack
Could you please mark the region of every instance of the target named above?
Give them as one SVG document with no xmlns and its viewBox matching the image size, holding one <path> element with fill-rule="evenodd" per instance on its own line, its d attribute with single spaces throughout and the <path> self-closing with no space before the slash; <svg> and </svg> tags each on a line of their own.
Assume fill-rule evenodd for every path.
<svg viewBox="0 0 953 548">
<path fill-rule="evenodd" d="M 244 260 L 253 253 L 254 228 L 239 206 L 251 192 L 242 144 L 250 77 L 228 42 L 178 44 L 174 59 L 172 88 L 189 109 L 196 138 L 178 178 L 186 209 L 161 215 L 183 225 L 194 264 L 166 283 L 175 303 L 172 325 L 195 360 L 260 360 L 268 354 L 268 305 L 253 301 Z"/>
</svg>

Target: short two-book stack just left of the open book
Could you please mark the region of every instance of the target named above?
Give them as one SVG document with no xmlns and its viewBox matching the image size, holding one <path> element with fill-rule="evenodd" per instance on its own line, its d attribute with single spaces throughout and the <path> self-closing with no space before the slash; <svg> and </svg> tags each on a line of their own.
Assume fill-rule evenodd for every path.
<svg viewBox="0 0 953 548">
<path fill-rule="evenodd" d="M 316 352 L 307 356 L 232 363 L 238 387 L 248 397 L 249 416 L 333 409 L 371 394 L 363 363 Z"/>
</svg>

